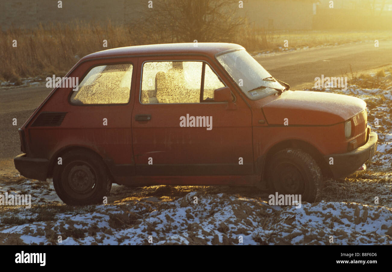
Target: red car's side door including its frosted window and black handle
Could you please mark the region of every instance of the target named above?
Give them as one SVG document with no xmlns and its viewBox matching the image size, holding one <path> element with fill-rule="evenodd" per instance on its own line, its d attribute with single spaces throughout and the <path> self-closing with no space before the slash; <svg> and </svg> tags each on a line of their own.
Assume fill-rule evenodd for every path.
<svg viewBox="0 0 392 272">
<path fill-rule="evenodd" d="M 140 58 L 132 111 L 136 175 L 253 173 L 251 111 L 214 102 L 227 86 L 206 60 Z M 232 91 L 234 94 L 234 92 Z"/>
</svg>

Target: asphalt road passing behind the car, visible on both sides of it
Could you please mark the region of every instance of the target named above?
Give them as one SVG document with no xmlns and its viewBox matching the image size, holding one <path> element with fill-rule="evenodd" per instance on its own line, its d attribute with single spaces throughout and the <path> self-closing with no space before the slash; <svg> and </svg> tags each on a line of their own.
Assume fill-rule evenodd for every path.
<svg viewBox="0 0 392 272">
<path fill-rule="evenodd" d="M 392 63 L 392 41 L 356 43 L 267 54 L 255 57 L 274 77 L 289 83 L 292 90 L 314 83 L 315 77 L 342 76 Z M 21 153 L 18 128 L 49 94 L 45 87 L 0 89 L 0 174 L 18 173 L 13 157 Z M 13 118 L 17 126 L 13 126 Z"/>
</svg>

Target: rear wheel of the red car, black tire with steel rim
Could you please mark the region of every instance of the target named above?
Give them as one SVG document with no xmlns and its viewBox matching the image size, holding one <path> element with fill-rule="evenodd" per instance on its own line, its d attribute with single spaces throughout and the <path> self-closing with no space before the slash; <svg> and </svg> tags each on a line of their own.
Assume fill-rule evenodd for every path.
<svg viewBox="0 0 392 272">
<path fill-rule="evenodd" d="M 112 187 L 102 159 L 85 150 L 71 150 L 61 157 L 62 165 L 56 163 L 53 169 L 58 197 L 68 205 L 102 203 Z"/>
</svg>

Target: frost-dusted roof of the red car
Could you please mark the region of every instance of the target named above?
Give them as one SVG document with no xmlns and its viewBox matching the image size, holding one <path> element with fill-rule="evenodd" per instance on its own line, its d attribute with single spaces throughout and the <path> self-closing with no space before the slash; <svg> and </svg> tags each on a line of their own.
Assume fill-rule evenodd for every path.
<svg viewBox="0 0 392 272">
<path fill-rule="evenodd" d="M 154 56 L 171 54 L 203 54 L 214 57 L 215 54 L 226 50 L 243 49 L 235 43 L 162 43 L 118 47 L 89 54 L 81 59 L 110 58 L 120 56 Z"/>
</svg>

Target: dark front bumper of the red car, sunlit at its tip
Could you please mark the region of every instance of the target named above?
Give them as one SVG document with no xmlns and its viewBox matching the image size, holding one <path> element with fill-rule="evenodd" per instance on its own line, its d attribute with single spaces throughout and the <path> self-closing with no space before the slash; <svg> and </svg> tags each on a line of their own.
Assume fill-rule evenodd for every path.
<svg viewBox="0 0 392 272">
<path fill-rule="evenodd" d="M 370 132 L 368 141 L 359 148 L 343 153 L 324 156 L 334 178 L 345 177 L 357 171 L 377 151 L 377 133 Z M 333 158 L 333 164 L 330 164 Z"/>
</svg>

